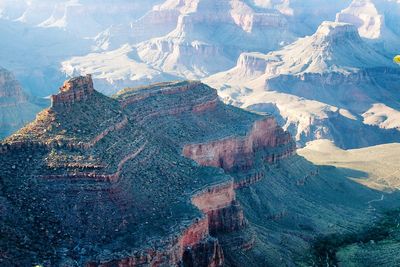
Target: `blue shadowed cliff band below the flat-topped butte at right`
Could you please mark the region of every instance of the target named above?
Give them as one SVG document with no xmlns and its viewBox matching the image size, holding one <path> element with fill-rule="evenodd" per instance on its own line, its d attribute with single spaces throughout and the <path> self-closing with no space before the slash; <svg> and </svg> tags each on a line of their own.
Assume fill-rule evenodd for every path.
<svg viewBox="0 0 400 267">
<path fill-rule="evenodd" d="M 279 75 L 267 80 L 265 88 L 321 101 L 361 114 L 373 103 L 387 103 L 397 107 L 399 99 L 393 88 L 398 87 L 395 81 L 399 76 L 399 70 L 389 67 L 366 68 L 351 73 L 332 71 Z M 320 86 L 324 87 L 324 91 L 318 89 Z"/>
</svg>

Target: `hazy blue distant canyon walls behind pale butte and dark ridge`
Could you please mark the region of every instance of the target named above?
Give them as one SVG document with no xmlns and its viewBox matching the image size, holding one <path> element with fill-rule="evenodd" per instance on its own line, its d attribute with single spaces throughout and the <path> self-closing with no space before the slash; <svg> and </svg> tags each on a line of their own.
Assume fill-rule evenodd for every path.
<svg viewBox="0 0 400 267">
<path fill-rule="evenodd" d="M 352 23 L 378 50 L 395 52 L 398 2 L 329 3 L 119 0 L 98 7 L 90 0 L 6 0 L 0 6 L 5 37 L 0 58 L 29 93 L 43 97 L 55 93 L 52 85 L 65 75 L 92 73 L 96 88 L 107 94 L 152 82 L 205 78 L 232 68 L 243 52 L 279 50 L 326 20 Z M 82 13 L 87 14 L 84 21 Z"/>
</svg>

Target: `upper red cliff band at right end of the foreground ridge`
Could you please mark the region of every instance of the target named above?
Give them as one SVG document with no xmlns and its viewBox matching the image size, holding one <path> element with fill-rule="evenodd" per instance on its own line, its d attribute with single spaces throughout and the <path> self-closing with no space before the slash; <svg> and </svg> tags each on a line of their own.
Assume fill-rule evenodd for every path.
<svg viewBox="0 0 400 267">
<path fill-rule="evenodd" d="M 275 150 L 275 148 L 279 148 Z M 254 123 L 245 137 L 230 137 L 202 144 L 189 144 L 183 155 L 200 165 L 232 169 L 249 169 L 255 153 L 264 151 L 264 161 L 276 162 L 292 155 L 295 144 L 290 135 L 280 128 L 275 119 L 266 118 Z"/>
</svg>

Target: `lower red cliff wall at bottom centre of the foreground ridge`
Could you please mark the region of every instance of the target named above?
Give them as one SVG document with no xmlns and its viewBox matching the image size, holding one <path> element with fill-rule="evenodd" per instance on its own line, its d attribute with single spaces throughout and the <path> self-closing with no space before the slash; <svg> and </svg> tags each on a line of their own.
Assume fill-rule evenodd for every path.
<svg viewBox="0 0 400 267">
<path fill-rule="evenodd" d="M 245 226 L 243 211 L 235 200 L 233 181 L 205 188 L 193 196 L 192 203 L 204 216 L 189 223 L 182 232 L 175 233 L 166 248 L 149 248 L 123 259 L 91 262 L 87 267 L 222 266 L 222 248 L 218 239 L 210 234 L 231 232 Z"/>
</svg>

